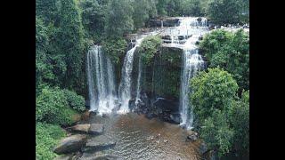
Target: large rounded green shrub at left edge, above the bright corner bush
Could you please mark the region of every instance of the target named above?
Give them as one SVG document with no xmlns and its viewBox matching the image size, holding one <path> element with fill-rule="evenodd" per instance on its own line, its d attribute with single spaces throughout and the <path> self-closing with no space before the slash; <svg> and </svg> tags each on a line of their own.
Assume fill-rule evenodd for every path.
<svg viewBox="0 0 285 160">
<path fill-rule="evenodd" d="M 50 88 L 45 86 L 37 96 L 37 122 L 68 125 L 73 123 L 72 116 L 75 114 L 77 112 L 69 108 L 69 102 L 64 92 L 58 87 Z"/>
</svg>

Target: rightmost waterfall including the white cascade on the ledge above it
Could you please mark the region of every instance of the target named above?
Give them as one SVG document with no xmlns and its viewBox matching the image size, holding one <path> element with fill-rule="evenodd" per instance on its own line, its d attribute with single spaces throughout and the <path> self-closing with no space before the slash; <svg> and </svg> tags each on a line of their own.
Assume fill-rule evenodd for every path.
<svg viewBox="0 0 285 160">
<path fill-rule="evenodd" d="M 200 69 L 204 68 L 204 60 L 199 55 L 199 50 L 195 43 L 199 40 L 199 36 L 207 31 L 205 27 L 207 27 L 207 20 L 204 18 L 199 20 L 197 18 L 185 18 L 180 21 L 179 26 L 181 35 L 189 36 L 191 34 L 191 37 L 183 44 L 183 68 L 180 89 L 181 125 L 185 126 L 186 129 L 192 128 L 194 118 L 191 103 L 189 103 L 189 94 L 191 94 L 189 82 Z"/>
</svg>

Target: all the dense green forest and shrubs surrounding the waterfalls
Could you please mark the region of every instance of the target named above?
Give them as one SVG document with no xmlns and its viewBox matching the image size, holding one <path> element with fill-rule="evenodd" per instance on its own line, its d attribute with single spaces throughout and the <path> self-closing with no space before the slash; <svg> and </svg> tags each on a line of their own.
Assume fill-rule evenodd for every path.
<svg viewBox="0 0 285 160">
<path fill-rule="evenodd" d="M 52 148 L 66 136 L 60 126 L 85 111 L 90 45 L 102 44 L 119 77 L 125 36 L 146 28 L 151 19 L 203 16 L 216 25 L 244 24 L 248 9 L 248 0 L 36 0 L 37 158 L 53 159 Z M 147 65 L 160 44 L 157 36 L 143 40 Z M 199 49 L 209 68 L 191 80 L 197 130 L 221 156 L 249 153 L 249 36 L 217 29 Z"/>
</svg>

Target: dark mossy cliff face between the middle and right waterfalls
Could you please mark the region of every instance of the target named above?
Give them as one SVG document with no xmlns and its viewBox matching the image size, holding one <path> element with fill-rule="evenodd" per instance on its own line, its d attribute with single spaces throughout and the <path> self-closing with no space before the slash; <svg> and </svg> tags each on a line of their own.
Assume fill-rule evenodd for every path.
<svg viewBox="0 0 285 160">
<path fill-rule="evenodd" d="M 153 58 L 151 65 L 143 65 L 141 69 L 141 90 L 135 104 L 137 92 L 133 92 L 130 108 L 138 114 L 179 124 L 179 91 L 182 67 L 182 49 L 161 47 Z M 134 64 L 138 64 L 139 54 L 134 57 Z M 134 79 L 139 75 L 138 65 L 134 65 Z M 132 84 L 133 90 L 137 82 Z"/>
</svg>

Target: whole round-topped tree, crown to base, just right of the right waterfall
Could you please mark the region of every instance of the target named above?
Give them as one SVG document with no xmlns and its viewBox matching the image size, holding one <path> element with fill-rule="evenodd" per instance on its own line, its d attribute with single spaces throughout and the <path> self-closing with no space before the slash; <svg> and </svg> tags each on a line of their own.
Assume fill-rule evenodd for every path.
<svg viewBox="0 0 285 160">
<path fill-rule="evenodd" d="M 201 137 L 219 156 L 232 150 L 234 129 L 231 127 L 232 101 L 238 84 L 221 68 L 208 68 L 191 79 L 191 104 Z"/>
</svg>

